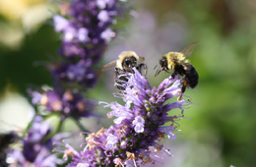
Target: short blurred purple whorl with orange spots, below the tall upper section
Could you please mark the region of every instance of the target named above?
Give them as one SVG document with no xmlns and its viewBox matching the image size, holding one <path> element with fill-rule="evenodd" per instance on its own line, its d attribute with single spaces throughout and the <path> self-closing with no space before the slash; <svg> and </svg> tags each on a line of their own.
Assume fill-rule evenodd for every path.
<svg viewBox="0 0 256 167">
<path fill-rule="evenodd" d="M 63 118 L 79 119 L 93 115 L 95 101 L 86 99 L 78 89 L 54 88 L 43 92 L 32 91 L 32 104 L 45 106 L 50 112 L 60 112 Z"/>
</svg>

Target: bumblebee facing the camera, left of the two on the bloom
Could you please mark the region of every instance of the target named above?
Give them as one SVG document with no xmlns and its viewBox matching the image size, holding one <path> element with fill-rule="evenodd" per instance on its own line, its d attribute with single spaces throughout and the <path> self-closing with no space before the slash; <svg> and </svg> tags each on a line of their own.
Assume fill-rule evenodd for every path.
<svg viewBox="0 0 256 167">
<path fill-rule="evenodd" d="M 124 51 L 119 54 L 119 59 L 110 62 L 106 65 L 104 65 L 101 68 L 101 71 L 106 71 L 114 68 L 114 85 L 117 89 L 118 92 L 122 92 L 125 90 L 125 86 L 123 83 L 128 82 L 128 73 L 134 74 L 134 71 L 132 68 L 136 68 L 141 74 L 142 74 L 142 69 L 144 68 L 145 76 L 147 75 L 147 65 L 144 64 L 145 58 L 144 57 L 139 57 L 134 51 Z"/>
</svg>

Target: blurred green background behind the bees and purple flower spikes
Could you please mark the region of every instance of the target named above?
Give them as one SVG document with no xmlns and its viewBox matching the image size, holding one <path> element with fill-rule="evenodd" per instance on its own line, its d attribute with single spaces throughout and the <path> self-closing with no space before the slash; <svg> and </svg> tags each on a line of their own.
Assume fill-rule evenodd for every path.
<svg viewBox="0 0 256 167">
<path fill-rule="evenodd" d="M 26 103 L 27 108 L 17 106 L 19 110 L 30 108 L 23 98 L 28 87 L 51 85 L 53 80 L 45 65 L 57 59 L 56 49 L 60 44 L 50 21 L 49 11 L 56 11 L 55 4 L 43 0 L 10 1 L 18 6 L 15 9 L 24 8 L 20 12 L 6 10 L 10 7 L 7 1 L 0 0 L 1 120 L 12 107 L 22 105 L 14 97 L 20 96 L 20 101 Z M 164 160 L 164 165 L 255 166 L 256 1 L 148 0 L 132 5 L 133 17 L 117 25 L 118 37 L 109 44 L 97 70 L 117 59 L 121 51 L 134 50 L 146 58 L 148 80 L 158 86 L 168 77 L 162 73 L 154 78 L 153 69 L 160 57 L 199 41 L 191 56 L 199 84 L 197 91 L 188 89 L 185 93 L 199 105 L 185 110 L 185 116 L 192 120 L 179 122 L 182 135 L 165 140 L 174 157 Z M 33 12 L 39 11 L 37 6 L 44 6 L 41 9 L 44 13 L 30 18 L 35 15 L 30 11 L 32 8 L 36 7 Z M 120 101 L 112 96 L 114 91 L 113 73 L 106 72 L 87 96 L 106 102 Z M 15 95 L 11 98 L 10 94 Z M 6 105 L 7 99 L 10 106 Z M 104 115 L 107 111 L 98 107 L 98 112 Z M 101 121 L 105 128 L 110 124 L 108 119 Z"/>
</svg>

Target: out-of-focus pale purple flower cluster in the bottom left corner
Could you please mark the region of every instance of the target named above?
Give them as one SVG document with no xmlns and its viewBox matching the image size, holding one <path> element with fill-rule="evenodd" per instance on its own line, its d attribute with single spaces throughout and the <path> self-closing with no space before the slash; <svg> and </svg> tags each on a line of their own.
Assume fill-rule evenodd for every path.
<svg viewBox="0 0 256 167">
<path fill-rule="evenodd" d="M 22 149 L 10 150 L 7 158 L 10 167 L 55 167 L 61 163 L 56 154 L 51 154 L 53 139 L 47 139 L 50 133 L 50 125 L 36 116 L 27 136 L 22 139 Z"/>
</svg>

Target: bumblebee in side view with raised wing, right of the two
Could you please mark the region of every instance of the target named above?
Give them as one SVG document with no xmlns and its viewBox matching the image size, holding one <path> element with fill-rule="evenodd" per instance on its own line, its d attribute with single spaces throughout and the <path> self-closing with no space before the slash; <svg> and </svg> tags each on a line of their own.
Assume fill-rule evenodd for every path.
<svg viewBox="0 0 256 167">
<path fill-rule="evenodd" d="M 155 77 L 157 77 L 161 71 L 168 73 L 169 70 L 172 70 L 172 78 L 174 78 L 175 75 L 183 77 L 182 93 L 185 92 L 187 86 L 194 88 L 198 84 L 199 76 L 194 66 L 189 63 L 186 57 L 191 55 L 196 44 L 197 42 L 190 44 L 181 52 L 168 52 L 165 54 L 160 59 L 160 63 L 155 67 L 156 69 L 160 65 Z"/>
</svg>

